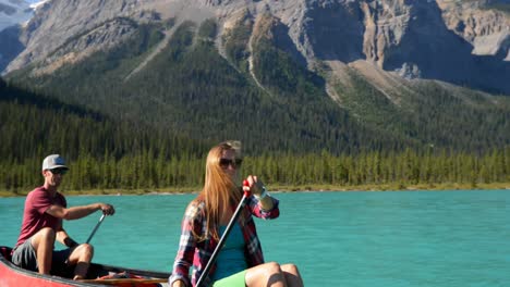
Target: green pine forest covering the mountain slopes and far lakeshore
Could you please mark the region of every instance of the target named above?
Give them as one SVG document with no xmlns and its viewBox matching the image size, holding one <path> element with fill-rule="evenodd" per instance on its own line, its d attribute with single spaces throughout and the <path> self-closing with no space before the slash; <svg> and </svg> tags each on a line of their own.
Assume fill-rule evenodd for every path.
<svg viewBox="0 0 510 287">
<path fill-rule="evenodd" d="M 510 183 L 508 97 L 422 82 L 397 108 L 353 73 L 333 87 L 339 107 L 270 33 L 253 40 L 248 71 L 253 27 L 232 30 L 224 59 L 215 25 L 183 23 L 137 74 L 161 26 L 136 26 L 123 45 L 52 74 L 0 79 L 0 190 L 40 185 L 50 153 L 69 161 L 63 189 L 198 190 L 206 153 L 226 139 L 243 142 L 243 174 L 275 187 Z"/>
</svg>

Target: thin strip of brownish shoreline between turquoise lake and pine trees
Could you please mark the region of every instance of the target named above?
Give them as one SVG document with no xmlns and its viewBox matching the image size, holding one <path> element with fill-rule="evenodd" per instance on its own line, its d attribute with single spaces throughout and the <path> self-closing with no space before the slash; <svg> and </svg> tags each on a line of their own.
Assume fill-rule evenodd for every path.
<svg viewBox="0 0 510 287">
<path fill-rule="evenodd" d="M 491 183 L 491 184 L 380 184 L 380 185 L 359 185 L 359 186 L 340 186 L 340 185 L 268 185 L 268 190 L 271 192 L 307 192 L 307 191 L 427 191 L 427 190 L 510 190 L 510 183 Z M 31 189 L 32 190 L 32 189 Z M 13 190 L 0 190 L 0 198 L 5 197 L 24 197 L 31 190 L 15 192 Z M 160 189 L 92 189 L 92 190 L 65 190 L 60 191 L 65 196 L 144 196 L 144 195 L 189 195 L 198 194 L 199 187 L 172 187 Z"/>
</svg>

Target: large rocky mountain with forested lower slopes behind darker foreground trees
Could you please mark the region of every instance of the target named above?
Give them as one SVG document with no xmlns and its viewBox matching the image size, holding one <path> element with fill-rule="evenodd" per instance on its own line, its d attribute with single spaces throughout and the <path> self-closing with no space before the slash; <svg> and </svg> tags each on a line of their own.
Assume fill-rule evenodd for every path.
<svg viewBox="0 0 510 287">
<path fill-rule="evenodd" d="M 510 125 L 509 97 L 494 96 L 510 95 L 509 8 L 508 0 L 50 0 L 15 37 L 22 49 L 3 73 L 64 102 L 192 136 L 212 138 L 234 122 L 268 142 L 287 138 L 271 141 L 283 148 L 344 151 L 363 142 L 462 146 L 452 135 L 462 130 L 476 149 L 510 142 L 485 142 Z M 220 136 L 253 136 L 240 126 Z"/>
</svg>

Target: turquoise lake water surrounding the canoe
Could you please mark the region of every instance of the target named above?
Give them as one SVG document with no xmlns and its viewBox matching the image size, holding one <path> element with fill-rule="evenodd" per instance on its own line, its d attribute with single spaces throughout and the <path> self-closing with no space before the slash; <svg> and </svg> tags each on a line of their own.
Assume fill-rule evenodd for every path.
<svg viewBox="0 0 510 287">
<path fill-rule="evenodd" d="M 266 261 L 294 262 L 305 286 L 510 286 L 510 190 L 293 192 L 256 221 Z M 96 262 L 171 271 L 194 195 L 68 197 L 116 205 Z M 0 199 L 0 245 L 15 244 L 24 198 Z M 64 223 L 85 241 L 100 217 Z"/>
</svg>

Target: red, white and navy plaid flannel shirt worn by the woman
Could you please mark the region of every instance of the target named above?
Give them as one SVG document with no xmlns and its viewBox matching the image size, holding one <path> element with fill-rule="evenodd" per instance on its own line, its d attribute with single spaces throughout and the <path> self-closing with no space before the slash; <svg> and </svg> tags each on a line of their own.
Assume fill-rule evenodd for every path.
<svg viewBox="0 0 510 287">
<path fill-rule="evenodd" d="M 255 197 L 248 197 L 246 204 L 244 205 L 243 216 L 239 216 L 238 224 L 240 224 L 244 241 L 245 241 L 245 258 L 248 267 L 256 266 L 264 263 L 264 255 L 258 240 L 257 230 L 253 216 L 269 220 L 276 219 L 280 215 L 279 201 L 271 198 L 274 201 L 274 208 L 269 211 L 265 211 L 260 208 L 258 200 Z M 206 217 L 205 215 L 205 203 L 192 201 L 184 213 L 182 221 L 182 233 L 179 242 L 179 250 L 173 264 L 172 275 L 169 278 L 170 286 L 173 282 L 181 279 L 186 286 L 195 286 L 198 278 L 201 277 L 207 262 L 209 261 L 212 252 L 215 251 L 218 240 L 210 237 L 206 240 L 197 241 L 192 233 L 192 223 L 194 223 L 195 232 L 197 234 L 205 234 L 206 232 Z M 244 219 L 244 220 L 243 220 Z M 190 282 L 190 267 L 193 264 L 193 276 Z M 211 284 L 210 275 L 216 271 L 216 263 L 209 271 L 209 276 L 204 280 L 206 286 Z"/>
</svg>

